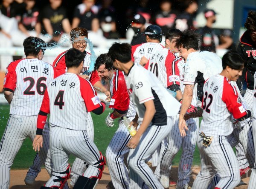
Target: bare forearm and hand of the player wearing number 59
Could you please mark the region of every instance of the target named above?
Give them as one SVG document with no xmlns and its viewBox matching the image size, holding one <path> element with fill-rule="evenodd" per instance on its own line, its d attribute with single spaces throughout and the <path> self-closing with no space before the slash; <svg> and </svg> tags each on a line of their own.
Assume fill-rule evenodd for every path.
<svg viewBox="0 0 256 189">
<path fill-rule="evenodd" d="M 134 135 L 127 144 L 127 146 L 131 149 L 134 149 L 137 147 L 137 145 L 140 141 L 141 135 L 148 128 L 148 125 L 151 123 L 151 121 L 154 117 L 154 114 L 156 113 L 156 109 L 155 109 L 153 100 L 144 102 L 144 106 L 145 106 L 146 110 L 145 110 L 145 115 L 144 115 L 143 121 L 140 124 L 140 128 L 137 130 L 136 135 Z"/>
</svg>

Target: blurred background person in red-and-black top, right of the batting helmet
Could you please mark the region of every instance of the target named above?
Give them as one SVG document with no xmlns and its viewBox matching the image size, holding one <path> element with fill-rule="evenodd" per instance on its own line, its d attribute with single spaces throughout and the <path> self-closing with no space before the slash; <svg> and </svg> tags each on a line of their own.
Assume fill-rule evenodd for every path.
<svg viewBox="0 0 256 189">
<path fill-rule="evenodd" d="M 163 35 L 166 35 L 169 29 L 173 28 L 178 11 L 172 10 L 170 0 L 162 0 L 160 2 L 160 9 L 154 17 L 154 22 L 160 26 Z"/>
</svg>

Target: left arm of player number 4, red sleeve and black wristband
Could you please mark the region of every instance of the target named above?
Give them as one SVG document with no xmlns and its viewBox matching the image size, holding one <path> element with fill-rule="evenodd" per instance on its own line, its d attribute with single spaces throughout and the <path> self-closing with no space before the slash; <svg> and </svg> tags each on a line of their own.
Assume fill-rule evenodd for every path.
<svg viewBox="0 0 256 189">
<path fill-rule="evenodd" d="M 50 113 L 50 101 L 49 101 L 49 95 L 48 90 L 45 90 L 44 93 L 44 99 L 40 107 L 40 111 L 38 113 L 38 119 L 37 119 L 37 129 L 36 129 L 36 135 L 33 141 L 33 150 L 40 151 L 40 148 L 43 147 L 43 129 L 44 125 L 47 121 L 47 115 Z"/>
</svg>

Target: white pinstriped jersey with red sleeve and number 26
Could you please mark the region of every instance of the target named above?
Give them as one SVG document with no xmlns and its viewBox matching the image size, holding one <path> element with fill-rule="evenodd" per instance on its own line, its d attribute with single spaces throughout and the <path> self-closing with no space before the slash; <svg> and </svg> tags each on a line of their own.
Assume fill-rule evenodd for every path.
<svg viewBox="0 0 256 189">
<path fill-rule="evenodd" d="M 20 59 L 6 68 L 4 90 L 14 93 L 10 114 L 38 115 L 44 92 L 53 79 L 52 65 L 39 59 Z"/>
</svg>

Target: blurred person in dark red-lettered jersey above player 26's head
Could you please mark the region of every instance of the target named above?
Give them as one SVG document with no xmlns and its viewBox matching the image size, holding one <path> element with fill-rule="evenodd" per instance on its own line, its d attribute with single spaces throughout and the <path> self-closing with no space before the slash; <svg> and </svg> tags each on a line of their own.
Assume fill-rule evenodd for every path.
<svg viewBox="0 0 256 189">
<path fill-rule="evenodd" d="M 41 23 L 38 19 L 39 10 L 35 7 L 35 0 L 24 0 L 24 3 L 26 3 L 26 10 L 21 14 L 19 29 L 26 37 L 41 38 Z"/>
</svg>

